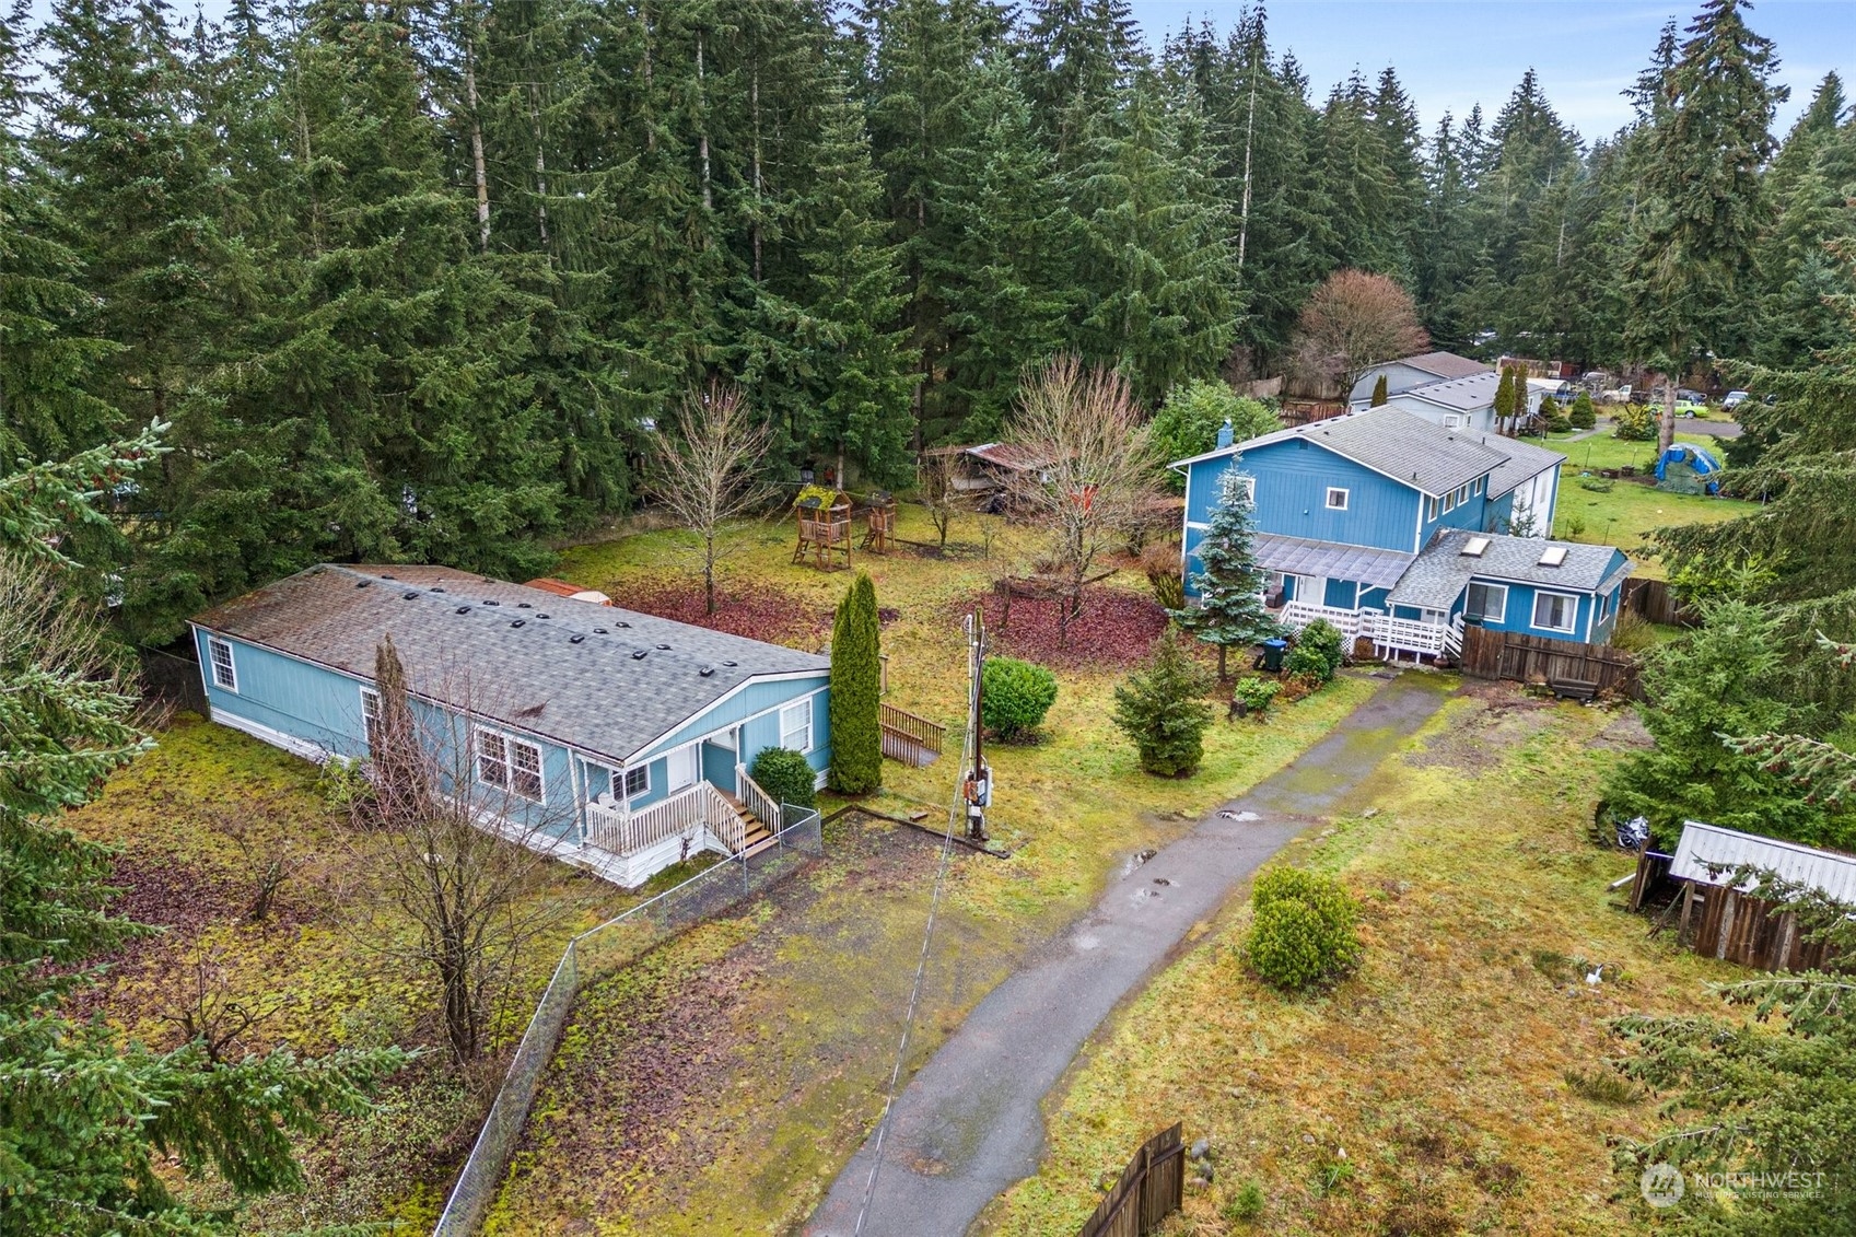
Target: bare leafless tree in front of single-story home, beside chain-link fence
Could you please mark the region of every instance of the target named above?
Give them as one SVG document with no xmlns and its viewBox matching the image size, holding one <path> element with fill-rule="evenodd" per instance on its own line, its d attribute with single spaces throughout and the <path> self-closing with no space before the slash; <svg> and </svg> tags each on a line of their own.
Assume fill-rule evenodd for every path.
<svg viewBox="0 0 1856 1237">
<path fill-rule="evenodd" d="M 421 693 L 447 708 L 416 706 L 388 639 L 375 685 L 375 793 L 356 804 L 356 819 L 377 836 L 375 853 L 384 851 L 388 903 L 418 931 L 364 925 L 364 940 L 434 979 L 445 1040 L 470 1062 L 490 1040 L 523 947 L 557 918 L 549 899 L 533 897 L 551 860 L 529 843 L 561 821 L 540 802 L 540 767 L 501 730 L 471 723 L 486 715 L 486 700 L 468 674 L 447 671 L 442 691 Z"/>
</svg>

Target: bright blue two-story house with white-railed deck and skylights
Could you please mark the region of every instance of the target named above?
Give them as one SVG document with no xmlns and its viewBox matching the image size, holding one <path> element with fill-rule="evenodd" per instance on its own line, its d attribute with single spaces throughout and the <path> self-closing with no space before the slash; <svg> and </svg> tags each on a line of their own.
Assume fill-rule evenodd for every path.
<svg viewBox="0 0 1856 1237">
<path fill-rule="evenodd" d="M 1602 643 L 1630 559 L 1609 546 L 1548 540 L 1563 462 L 1546 448 L 1444 429 L 1392 407 L 1242 444 L 1223 435 L 1214 451 L 1173 464 L 1186 474 L 1188 594 L 1197 592 L 1195 550 L 1219 479 L 1236 468 L 1253 500 L 1268 602 L 1290 626 L 1327 618 L 1388 654 L 1442 652 L 1464 617 Z M 1438 566 L 1446 559 L 1448 570 Z M 1464 572 L 1466 563 L 1490 570 Z M 1442 596 L 1451 579 L 1455 592 Z M 1537 605 L 1535 592 L 1565 600 Z"/>
</svg>

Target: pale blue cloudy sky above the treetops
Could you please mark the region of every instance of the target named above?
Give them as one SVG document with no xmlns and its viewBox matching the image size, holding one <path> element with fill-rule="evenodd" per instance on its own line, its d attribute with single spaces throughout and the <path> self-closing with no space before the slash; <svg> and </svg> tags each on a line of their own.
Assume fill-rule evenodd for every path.
<svg viewBox="0 0 1856 1237">
<path fill-rule="evenodd" d="M 1223 33 L 1242 4 L 1128 0 L 1149 45 L 1188 20 Z M 1416 100 L 1424 132 L 1448 110 L 1459 119 L 1477 102 L 1494 115 L 1533 65 L 1561 119 L 1587 139 L 1630 121 L 1618 93 L 1650 59 L 1657 32 L 1674 17 L 1687 26 L 1700 7 L 1637 0 L 1270 0 L 1270 45 L 1294 50 L 1320 102 L 1355 65 L 1377 76 L 1388 63 Z M 1746 24 L 1778 45 L 1778 80 L 1791 87 L 1780 108 L 1784 136 L 1817 82 L 1836 69 L 1849 89 L 1856 72 L 1856 2 L 1758 0 Z"/>
</svg>

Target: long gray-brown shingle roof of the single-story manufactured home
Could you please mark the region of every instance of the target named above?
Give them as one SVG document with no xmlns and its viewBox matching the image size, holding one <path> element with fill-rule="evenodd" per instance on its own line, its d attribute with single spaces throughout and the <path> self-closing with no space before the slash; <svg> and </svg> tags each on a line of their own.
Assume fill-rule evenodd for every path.
<svg viewBox="0 0 1856 1237">
<path fill-rule="evenodd" d="M 754 678 L 831 665 L 447 566 L 312 566 L 195 622 L 366 680 L 392 633 L 414 691 L 612 760 Z"/>
</svg>

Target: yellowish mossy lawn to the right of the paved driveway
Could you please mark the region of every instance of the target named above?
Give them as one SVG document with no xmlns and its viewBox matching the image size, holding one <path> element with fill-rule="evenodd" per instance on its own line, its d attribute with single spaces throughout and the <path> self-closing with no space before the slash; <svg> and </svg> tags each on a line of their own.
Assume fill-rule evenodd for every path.
<svg viewBox="0 0 1856 1237">
<path fill-rule="evenodd" d="M 1631 856 L 1587 840 L 1630 713 L 1483 685 L 1446 706 L 1290 862 L 1364 906 L 1362 970 L 1284 997 L 1242 966 L 1245 899 L 1097 1035 L 1047 1105 L 1049 1152 L 978 1231 L 1075 1231 L 1128 1153 L 1175 1120 L 1216 1157 L 1167 1233 L 1646 1231 L 1605 1139 L 1657 1129 L 1602 1103 L 1605 1020 L 1722 1012 L 1732 968 L 1676 953 L 1613 906 Z M 1372 814 L 1368 814 L 1372 810 Z M 1617 979 L 1583 981 L 1609 962 Z M 1253 1222 L 1225 1207 L 1257 1181 Z"/>
</svg>

